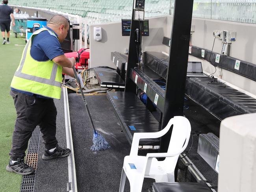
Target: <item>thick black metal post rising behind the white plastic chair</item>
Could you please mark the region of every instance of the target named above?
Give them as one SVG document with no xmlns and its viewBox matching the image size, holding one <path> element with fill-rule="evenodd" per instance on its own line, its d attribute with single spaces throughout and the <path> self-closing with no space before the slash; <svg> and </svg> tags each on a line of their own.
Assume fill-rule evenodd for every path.
<svg viewBox="0 0 256 192">
<path fill-rule="evenodd" d="M 192 11 L 193 0 L 175 0 L 162 128 L 174 116 L 183 116 Z M 161 138 L 161 152 L 168 149 L 171 131 Z"/>
</svg>

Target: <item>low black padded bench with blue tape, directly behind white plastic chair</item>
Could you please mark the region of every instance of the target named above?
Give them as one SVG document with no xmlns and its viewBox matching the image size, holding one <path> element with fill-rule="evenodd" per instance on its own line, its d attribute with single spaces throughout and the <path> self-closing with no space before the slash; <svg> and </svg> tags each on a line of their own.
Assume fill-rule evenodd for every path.
<svg viewBox="0 0 256 192">
<path fill-rule="evenodd" d="M 115 109 L 115 114 L 130 144 L 132 144 L 134 133 L 158 132 L 161 130 L 161 124 L 148 111 L 136 94 L 108 91 L 107 97 Z M 141 139 L 139 145 L 142 148 L 158 149 L 160 138 Z"/>
</svg>

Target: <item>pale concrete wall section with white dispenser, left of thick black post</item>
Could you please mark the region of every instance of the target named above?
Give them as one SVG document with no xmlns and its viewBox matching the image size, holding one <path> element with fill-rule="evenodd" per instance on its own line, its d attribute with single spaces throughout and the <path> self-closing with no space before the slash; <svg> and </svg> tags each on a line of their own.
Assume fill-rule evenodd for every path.
<svg viewBox="0 0 256 192">
<path fill-rule="evenodd" d="M 165 51 L 169 48 L 162 44 L 163 36 L 170 36 L 171 31 L 167 26 L 170 18 L 154 17 L 149 19 L 149 37 L 143 37 L 143 51 Z M 172 22 L 172 21 L 171 21 Z M 93 39 L 93 27 L 102 28 L 102 40 Z M 90 26 L 90 67 L 109 66 L 115 68 L 111 61 L 111 52 L 117 51 L 124 53 L 129 48 L 130 37 L 122 36 L 121 22 L 106 24 L 94 24 Z"/>
</svg>

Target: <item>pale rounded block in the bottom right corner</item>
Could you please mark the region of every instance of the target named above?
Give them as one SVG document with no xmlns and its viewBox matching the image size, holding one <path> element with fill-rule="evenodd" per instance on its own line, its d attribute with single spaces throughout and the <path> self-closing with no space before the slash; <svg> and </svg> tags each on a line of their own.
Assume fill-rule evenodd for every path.
<svg viewBox="0 0 256 192">
<path fill-rule="evenodd" d="M 256 113 L 221 122 L 218 192 L 255 192 Z"/>
</svg>

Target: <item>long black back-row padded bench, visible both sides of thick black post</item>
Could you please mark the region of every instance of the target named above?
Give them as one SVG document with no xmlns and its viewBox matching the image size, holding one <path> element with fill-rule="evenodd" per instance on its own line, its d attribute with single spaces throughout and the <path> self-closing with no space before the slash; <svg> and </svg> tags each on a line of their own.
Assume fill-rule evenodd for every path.
<svg viewBox="0 0 256 192">
<path fill-rule="evenodd" d="M 146 65 L 166 79 L 169 58 L 160 52 L 145 52 Z M 212 78 L 187 78 L 186 95 L 220 120 L 238 114 L 256 113 L 256 99 Z"/>
</svg>

